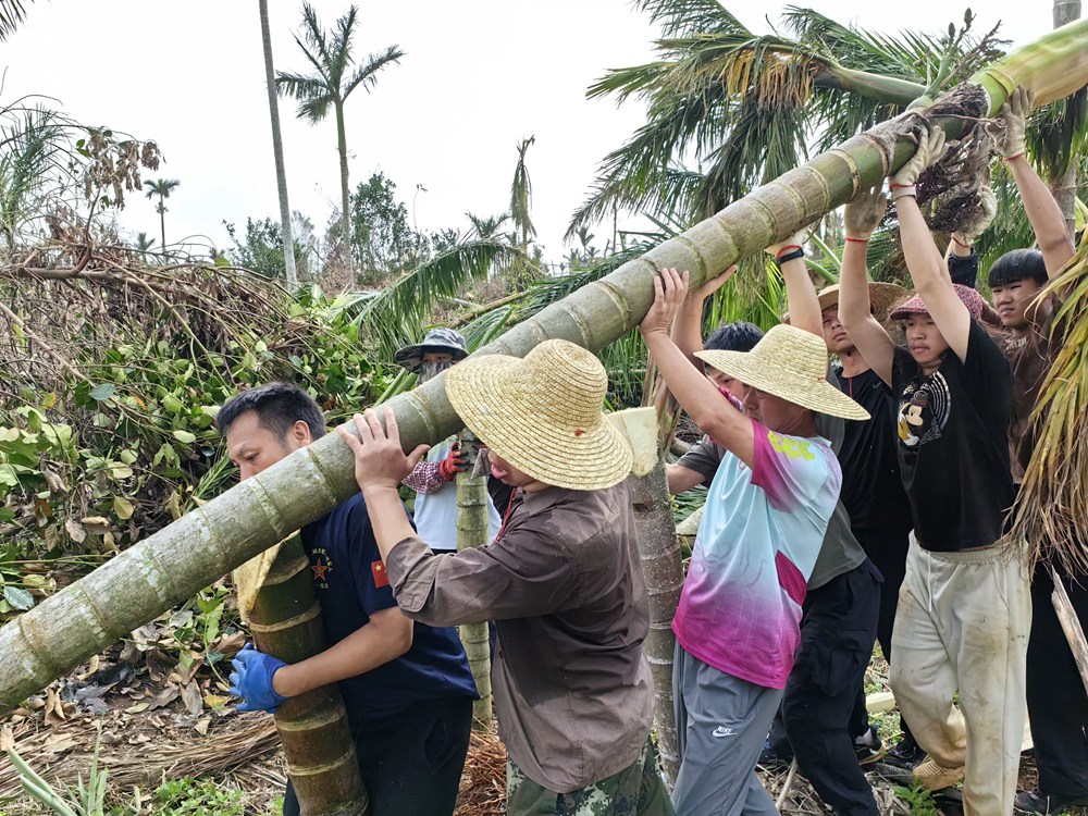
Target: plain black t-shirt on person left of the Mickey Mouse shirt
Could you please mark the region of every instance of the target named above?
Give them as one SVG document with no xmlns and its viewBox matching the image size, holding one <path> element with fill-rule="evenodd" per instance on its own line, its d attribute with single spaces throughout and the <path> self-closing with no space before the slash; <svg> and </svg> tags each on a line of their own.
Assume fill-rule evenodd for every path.
<svg viewBox="0 0 1088 816">
<path fill-rule="evenodd" d="M 836 367 L 834 384 L 869 412 L 868 420 L 844 420 L 839 461 L 840 498 L 855 530 L 910 530 L 911 502 L 903 490 L 895 452 L 898 400 L 873 369 L 844 376 Z"/>
</svg>

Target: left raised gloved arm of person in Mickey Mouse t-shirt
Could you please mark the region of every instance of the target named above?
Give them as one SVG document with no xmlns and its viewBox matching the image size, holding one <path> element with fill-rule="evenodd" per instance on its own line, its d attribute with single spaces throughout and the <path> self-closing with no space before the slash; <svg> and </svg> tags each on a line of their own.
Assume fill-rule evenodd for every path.
<svg viewBox="0 0 1088 816">
<path fill-rule="evenodd" d="M 895 347 L 880 321 L 873 317 L 866 273 L 869 236 L 887 210 L 888 197 L 880 187 L 858 193 L 843 210 L 846 246 L 839 272 L 839 321 L 869 368 L 891 385 Z"/>
</svg>

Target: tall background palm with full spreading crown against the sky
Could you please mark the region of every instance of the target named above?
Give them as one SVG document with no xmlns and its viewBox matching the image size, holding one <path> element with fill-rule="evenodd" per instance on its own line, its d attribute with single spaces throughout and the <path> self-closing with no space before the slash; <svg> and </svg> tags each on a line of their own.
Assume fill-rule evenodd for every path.
<svg viewBox="0 0 1088 816">
<path fill-rule="evenodd" d="M 344 132 L 344 102 L 356 88 L 370 90 L 378 84 L 378 72 L 404 57 L 397 46 L 390 46 L 379 54 L 370 54 L 366 64 L 355 65 L 351 57 L 351 35 L 355 33 L 358 7 L 353 5 L 336 21 L 332 30 L 321 27 L 317 12 L 309 3 L 302 4 L 302 37 L 295 36 L 295 42 L 313 67 L 312 74 L 277 72 L 276 90 L 282 96 L 298 100 L 298 119 L 311 124 L 323 120 L 329 109 L 336 114 L 336 148 L 341 163 L 341 248 L 345 262 L 350 262 L 348 242 L 351 236 L 351 205 L 347 183 L 347 136 Z"/>
</svg>

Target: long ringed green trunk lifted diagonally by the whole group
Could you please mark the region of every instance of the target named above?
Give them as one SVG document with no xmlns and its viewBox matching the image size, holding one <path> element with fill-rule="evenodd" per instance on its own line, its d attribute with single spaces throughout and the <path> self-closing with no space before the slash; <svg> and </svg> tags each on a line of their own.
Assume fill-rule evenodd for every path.
<svg viewBox="0 0 1088 816">
<path fill-rule="evenodd" d="M 951 137 L 991 116 L 1018 84 L 1044 104 L 1088 83 L 1088 21 L 1051 32 L 943 95 L 924 114 Z M 523 357 L 552 337 L 599 350 L 631 330 L 654 297 L 659 269 L 691 271 L 692 284 L 789 236 L 863 188 L 879 184 L 915 150 L 913 120 L 855 136 L 783 174 L 641 258 L 512 327 L 475 354 Z M 406 449 L 462 426 L 437 376 L 388 403 Z M 357 486 L 350 450 L 327 434 L 115 556 L 0 629 L 0 716 L 219 576 L 324 515 Z"/>
</svg>

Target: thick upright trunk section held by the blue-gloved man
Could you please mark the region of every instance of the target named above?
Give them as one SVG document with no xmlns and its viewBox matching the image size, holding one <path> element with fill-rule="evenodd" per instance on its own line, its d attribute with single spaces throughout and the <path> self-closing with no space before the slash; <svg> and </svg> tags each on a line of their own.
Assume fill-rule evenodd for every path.
<svg viewBox="0 0 1088 816">
<path fill-rule="evenodd" d="M 257 647 L 287 663 L 325 648 L 310 561 L 298 535 L 280 547 L 249 614 Z M 369 800 L 359 775 L 347 710 L 335 685 L 299 694 L 275 713 L 299 809 L 305 816 L 362 816 Z"/>
</svg>

